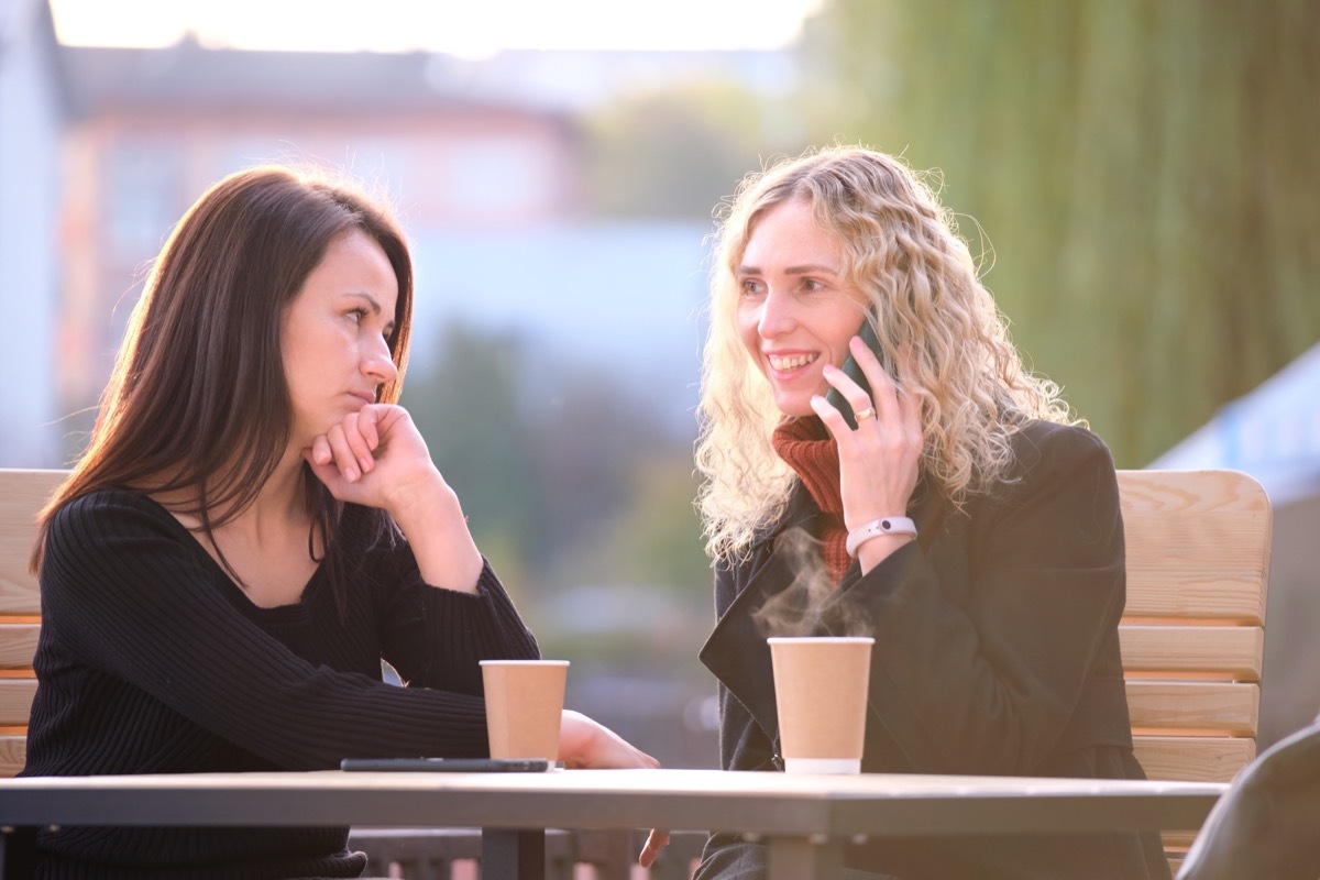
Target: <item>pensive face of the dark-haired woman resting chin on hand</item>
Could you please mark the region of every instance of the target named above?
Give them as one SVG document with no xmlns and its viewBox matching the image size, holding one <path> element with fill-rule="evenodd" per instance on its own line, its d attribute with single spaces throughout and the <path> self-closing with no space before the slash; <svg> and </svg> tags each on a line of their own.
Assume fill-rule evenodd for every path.
<svg viewBox="0 0 1320 880">
<path fill-rule="evenodd" d="M 337 237 L 284 313 L 280 348 L 294 449 L 376 401 L 399 371 L 389 355 L 399 281 L 376 241 Z"/>
</svg>

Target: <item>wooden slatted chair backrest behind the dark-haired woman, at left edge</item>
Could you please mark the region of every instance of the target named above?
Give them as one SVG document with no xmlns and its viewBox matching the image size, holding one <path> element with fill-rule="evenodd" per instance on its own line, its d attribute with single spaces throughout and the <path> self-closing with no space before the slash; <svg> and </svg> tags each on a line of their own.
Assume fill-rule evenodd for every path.
<svg viewBox="0 0 1320 880">
<path fill-rule="evenodd" d="M 0 470 L 0 777 L 26 760 L 28 714 L 37 679 L 32 656 L 41 627 L 41 591 L 28 571 L 37 512 L 67 471 Z"/>
</svg>

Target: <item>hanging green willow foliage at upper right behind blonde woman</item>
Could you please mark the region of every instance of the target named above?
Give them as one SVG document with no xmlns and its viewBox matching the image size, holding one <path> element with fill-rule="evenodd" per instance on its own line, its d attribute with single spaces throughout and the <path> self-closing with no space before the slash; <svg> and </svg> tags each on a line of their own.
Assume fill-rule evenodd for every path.
<svg viewBox="0 0 1320 880">
<path fill-rule="evenodd" d="M 1320 339 L 1320 4 L 834 0 L 809 50 L 813 129 L 942 170 L 1121 466 Z"/>
</svg>

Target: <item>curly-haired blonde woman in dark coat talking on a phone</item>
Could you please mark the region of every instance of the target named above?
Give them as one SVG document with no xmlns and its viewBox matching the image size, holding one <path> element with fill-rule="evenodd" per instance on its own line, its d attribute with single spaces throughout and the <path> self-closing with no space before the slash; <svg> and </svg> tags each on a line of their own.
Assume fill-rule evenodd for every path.
<svg viewBox="0 0 1320 880">
<path fill-rule="evenodd" d="M 1023 368 L 923 179 L 862 148 L 748 177 L 721 220 L 710 311 L 697 462 L 718 623 L 701 657 L 725 769 L 783 769 L 764 639 L 787 607 L 807 613 L 779 621 L 797 632 L 875 637 L 863 772 L 1140 778 L 1113 460 Z M 812 579 L 824 588 L 792 595 Z M 698 877 L 756 877 L 763 859 L 713 835 Z M 1159 840 L 1135 834 L 873 840 L 847 864 L 1168 876 Z"/>
</svg>

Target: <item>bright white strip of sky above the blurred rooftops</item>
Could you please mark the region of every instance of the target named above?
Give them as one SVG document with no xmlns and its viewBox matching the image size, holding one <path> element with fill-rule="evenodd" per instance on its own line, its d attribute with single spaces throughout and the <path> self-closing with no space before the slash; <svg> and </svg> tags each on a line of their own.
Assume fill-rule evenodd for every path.
<svg viewBox="0 0 1320 880">
<path fill-rule="evenodd" d="M 66 45 L 286 51 L 774 49 L 824 0 L 50 0 Z"/>
</svg>

